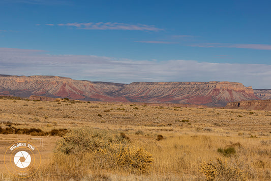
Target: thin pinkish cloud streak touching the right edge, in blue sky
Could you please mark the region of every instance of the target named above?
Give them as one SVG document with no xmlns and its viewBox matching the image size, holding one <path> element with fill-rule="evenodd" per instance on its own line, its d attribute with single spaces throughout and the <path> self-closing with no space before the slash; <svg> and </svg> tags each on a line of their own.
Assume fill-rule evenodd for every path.
<svg viewBox="0 0 271 181">
<path fill-rule="evenodd" d="M 248 48 L 248 49 L 262 49 L 262 50 L 271 50 L 271 45 L 269 44 L 230 44 L 230 43 L 199 43 L 192 44 L 189 46 L 197 47 L 214 47 L 214 48 Z"/>
</svg>

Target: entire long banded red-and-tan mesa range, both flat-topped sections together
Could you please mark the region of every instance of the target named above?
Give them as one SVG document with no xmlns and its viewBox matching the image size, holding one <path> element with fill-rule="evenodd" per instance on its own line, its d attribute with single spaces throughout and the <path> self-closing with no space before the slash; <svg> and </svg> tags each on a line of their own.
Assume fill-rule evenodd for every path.
<svg viewBox="0 0 271 181">
<path fill-rule="evenodd" d="M 46 96 L 89 101 L 148 102 L 226 106 L 259 99 L 252 87 L 234 82 L 134 82 L 118 84 L 59 76 L 0 75 L 0 95 Z"/>
</svg>

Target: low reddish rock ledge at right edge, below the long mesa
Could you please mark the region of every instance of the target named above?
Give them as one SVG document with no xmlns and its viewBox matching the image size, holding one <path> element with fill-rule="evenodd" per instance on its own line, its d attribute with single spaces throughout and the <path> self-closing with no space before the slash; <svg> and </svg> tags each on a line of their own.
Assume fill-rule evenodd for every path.
<svg viewBox="0 0 271 181">
<path fill-rule="evenodd" d="M 271 111 L 271 99 L 228 102 L 226 109 L 250 109 Z"/>
</svg>

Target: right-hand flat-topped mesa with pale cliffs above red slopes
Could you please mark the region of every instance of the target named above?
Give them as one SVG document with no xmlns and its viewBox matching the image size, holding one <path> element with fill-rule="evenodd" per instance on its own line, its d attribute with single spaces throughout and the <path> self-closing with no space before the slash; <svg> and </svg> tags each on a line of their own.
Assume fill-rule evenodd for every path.
<svg viewBox="0 0 271 181">
<path fill-rule="evenodd" d="M 173 102 L 225 106 L 229 101 L 253 100 L 251 87 L 232 82 L 136 82 L 113 95 L 138 102 Z"/>
</svg>

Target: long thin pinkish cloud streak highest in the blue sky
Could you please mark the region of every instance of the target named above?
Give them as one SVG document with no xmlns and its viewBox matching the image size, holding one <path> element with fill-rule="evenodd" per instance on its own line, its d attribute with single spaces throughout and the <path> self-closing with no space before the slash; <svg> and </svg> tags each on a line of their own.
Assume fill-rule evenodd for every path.
<svg viewBox="0 0 271 181">
<path fill-rule="evenodd" d="M 46 24 L 54 25 L 54 24 Z M 138 30 L 138 31 L 162 31 L 163 29 L 156 28 L 154 25 L 146 24 L 127 24 L 119 22 L 86 22 L 86 23 L 58 23 L 58 26 L 76 27 L 84 30 Z"/>
</svg>

